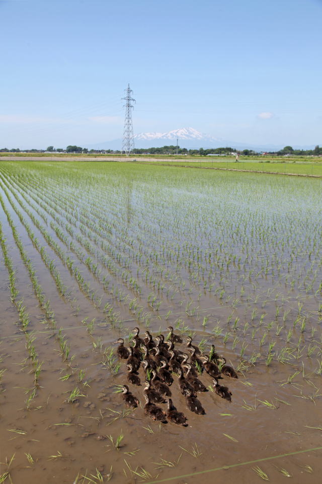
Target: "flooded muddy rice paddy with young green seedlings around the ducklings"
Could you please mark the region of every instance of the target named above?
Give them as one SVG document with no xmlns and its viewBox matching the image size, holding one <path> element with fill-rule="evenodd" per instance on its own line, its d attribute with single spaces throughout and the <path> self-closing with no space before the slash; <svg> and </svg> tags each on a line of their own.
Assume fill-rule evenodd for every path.
<svg viewBox="0 0 322 484">
<path fill-rule="evenodd" d="M 0 161 L 0 204 L 0 482 L 320 482 L 320 179 Z M 169 325 L 238 373 L 205 415 L 173 375 L 188 427 L 118 391 Z"/>
</svg>

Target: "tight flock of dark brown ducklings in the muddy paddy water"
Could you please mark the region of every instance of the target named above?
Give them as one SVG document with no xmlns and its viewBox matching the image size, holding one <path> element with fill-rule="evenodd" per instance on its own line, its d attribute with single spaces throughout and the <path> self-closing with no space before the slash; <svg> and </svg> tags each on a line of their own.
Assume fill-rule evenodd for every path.
<svg viewBox="0 0 322 484">
<path fill-rule="evenodd" d="M 186 399 L 187 408 L 198 415 L 204 415 L 205 411 L 197 398 L 197 392 L 207 392 L 206 386 L 198 378 L 199 372 L 206 371 L 213 378 L 213 386 L 216 394 L 231 402 L 231 392 L 227 386 L 219 384 L 221 374 L 230 378 L 238 378 L 237 373 L 226 365 L 223 356 L 218 355 L 214 345 L 211 345 L 209 354 L 201 353 L 197 346 L 192 344 L 192 338 L 187 337 L 186 351 L 175 349 L 175 344 L 182 344 L 182 337 L 174 334 L 174 329 L 169 326 L 169 340 L 165 341 L 162 334 L 155 336 L 154 341 L 151 334 L 145 331 L 145 338 L 139 336 L 139 328 L 133 329 L 133 346 L 124 346 L 124 339 L 119 338 L 117 343 L 117 355 L 126 359 L 128 369 L 127 380 L 133 385 L 140 385 L 138 369 L 142 363 L 145 372 L 145 387 L 143 395 L 145 398 L 144 413 L 153 420 L 166 423 L 167 418 L 175 424 L 187 426 L 187 418 L 183 412 L 177 411 L 171 399 L 172 393 L 170 386 L 174 379 L 172 373 L 179 375 L 178 383 L 182 395 Z M 219 369 L 220 368 L 220 369 Z M 128 407 L 137 407 L 139 400 L 129 391 L 128 385 L 122 386 L 122 398 Z M 167 411 L 155 404 L 167 403 Z"/>
</svg>

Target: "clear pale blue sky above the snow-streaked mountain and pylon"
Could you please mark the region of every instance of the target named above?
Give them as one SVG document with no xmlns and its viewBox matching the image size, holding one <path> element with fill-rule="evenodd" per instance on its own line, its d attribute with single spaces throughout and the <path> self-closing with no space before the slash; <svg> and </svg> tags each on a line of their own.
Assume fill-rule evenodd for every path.
<svg viewBox="0 0 322 484">
<path fill-rule="evenodd" d="M 0 0 L 0 147 L 191 126 L 322 145 L 321 0 Z"/>
</svg>

